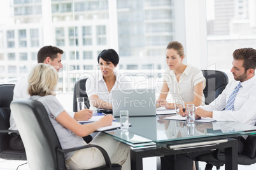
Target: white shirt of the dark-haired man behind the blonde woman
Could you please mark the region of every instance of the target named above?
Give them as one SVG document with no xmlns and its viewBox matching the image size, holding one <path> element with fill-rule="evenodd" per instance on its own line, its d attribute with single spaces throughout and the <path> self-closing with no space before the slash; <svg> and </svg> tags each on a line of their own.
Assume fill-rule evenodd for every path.
<svg viewBox="0 0 256 170">
<path fill-rule="evenodd" d="M 13 100 L 17 100 L 18 98 L 30 98 L 29 93 L 27 93 L 27 89 L 29 88 L 29 74 L 24 75 L 20 80 L 18 80 L 17 84 L 13 89 Z M 68 112 L 71 117 L 74 117 L 74 112 Z M 13 119 L 13 115 L 10 115 L 10 128 L 9 130 L 18 130 L 16 123 Z"/>
</svg>

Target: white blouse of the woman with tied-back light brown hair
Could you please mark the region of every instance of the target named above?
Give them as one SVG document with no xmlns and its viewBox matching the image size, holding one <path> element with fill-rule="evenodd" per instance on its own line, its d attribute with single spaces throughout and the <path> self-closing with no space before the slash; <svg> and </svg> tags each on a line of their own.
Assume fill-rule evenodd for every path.
<svg viewBox="0 0 256 170">
<path fill-rule="evenodd" d="M 180 75 L 179 82 L 175 75 L 174 70 L 166 69 L 164 72 L 164 80 L 167 83 L 169 91 L 174 98 L 182 98 L 185 103 L 194 101 L 194 87 L 199 83 L 203 82 L 203 89 L 205 88 L 206 82 L 203 76 L 203 72 L 196 67 L 188 65 L 187 68 Z M 204 105 L 204 98 L 201 105 Z"/>
</svg>

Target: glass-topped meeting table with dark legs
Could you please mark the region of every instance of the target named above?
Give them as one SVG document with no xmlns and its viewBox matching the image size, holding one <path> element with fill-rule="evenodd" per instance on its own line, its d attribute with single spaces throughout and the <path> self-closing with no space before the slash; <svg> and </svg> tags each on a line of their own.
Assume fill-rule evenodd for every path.
<svg viewBox="0 0 256 170">
<path fill-rule="evenodd" d="M 239 122 L 194 122 L 164 117 L 129 117 L 129 131 L 105 131 L 131 146 L 131 168 L 143 169 L 143 157 L 185 154 L 225 148 L 225 169 L 238 169 L 237 140 L 231 137 L 256 133 L 256 126 Z M 117 121 L 119 119 L 117 118 Z"/>
</svg>

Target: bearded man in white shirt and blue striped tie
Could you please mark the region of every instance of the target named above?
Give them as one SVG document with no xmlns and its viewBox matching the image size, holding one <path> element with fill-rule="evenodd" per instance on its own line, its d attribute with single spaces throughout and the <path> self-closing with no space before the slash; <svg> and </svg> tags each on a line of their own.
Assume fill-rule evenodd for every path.
<svg viewBox="0 0 256 170">
<path fill-rule="evenodd" d="M 236 121 L 255 125 L 256 110 L 252 107 L 256 103 L 256 49 L 236 49 L 233 53 L 232 65 L 231 72 L 235 81 L 227 84 L 222 94 L 209 105 L 197 108 L 196 118 L 211 117 L 216 121 Z M 184 113 L 181 112 L 182 114 Z M 241 154 L 245 138 L 239 136 L 236 139 L 238 154 Z M 192 159 L 203 154 L 206 152 L 161 157 L 162 169 L 192 169 Z"/>
</svg>

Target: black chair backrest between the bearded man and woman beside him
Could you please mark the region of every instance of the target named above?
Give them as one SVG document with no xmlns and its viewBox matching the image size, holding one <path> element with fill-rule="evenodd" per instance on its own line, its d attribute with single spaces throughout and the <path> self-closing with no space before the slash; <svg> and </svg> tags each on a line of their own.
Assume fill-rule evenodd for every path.
<svg viewBox="0 0 256 170">
<path fill-rule="evenodd" d="M 229 83 L 229 77 L 224 72 L 218 70 L 202 70 L 202 72 L 206 79 L 204 97 L 205 103 L 208 105 L 222 93 Z"/>
</svg>

